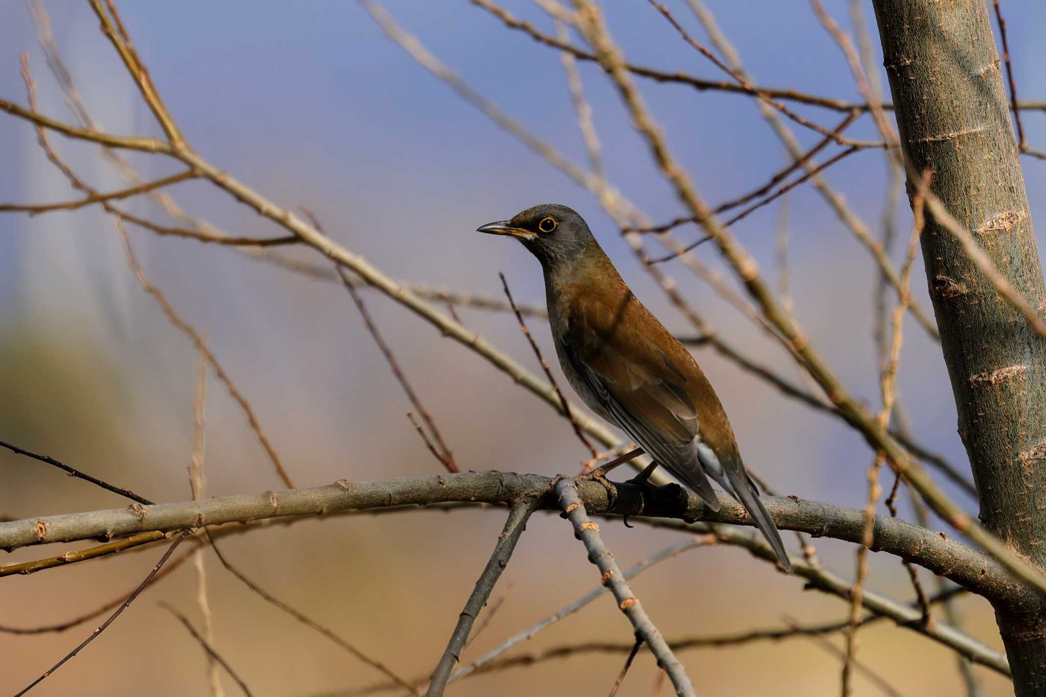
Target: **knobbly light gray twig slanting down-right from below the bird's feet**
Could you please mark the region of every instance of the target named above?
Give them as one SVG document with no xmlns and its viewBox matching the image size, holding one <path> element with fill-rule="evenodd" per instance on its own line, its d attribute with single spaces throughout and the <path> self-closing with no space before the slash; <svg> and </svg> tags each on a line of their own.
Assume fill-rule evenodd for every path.
<svg viewBox="0 0 1046 697">
<path fill-rule="evenodd" d="M 683 666 L 668 648 L 664 636 L 646 615 L 639 604 L 639 599 L 632 593 L 629 582 L 621 574 L 617 562 L 614 561 L 613 555 L 604 545 L 602 539 L 599 537 L 599 526 L 589 519 L 573 480 L 561 479 L 555 484 L 555 493 L 560 498 L 560 507 L 574 527 L 574 535 L 581 538 L 582 542 L 585 543 L 585 549 L 588 550 L 589 561 L 599 568 L 602 574 L 602 584 L 610 586 L 614 599 L 617 601 L 618 609 L 632 623 L 636 636 L 641 637 L 646 643 L 651 653 L 657 657 L 658 666 L 661 666 L 668 673 L 668 677 L 672 678 L 672 683 L 676 688 L 676 693 L 681 697 L 695 697 L 693 687 L 683 671 Z"/>
</svg>

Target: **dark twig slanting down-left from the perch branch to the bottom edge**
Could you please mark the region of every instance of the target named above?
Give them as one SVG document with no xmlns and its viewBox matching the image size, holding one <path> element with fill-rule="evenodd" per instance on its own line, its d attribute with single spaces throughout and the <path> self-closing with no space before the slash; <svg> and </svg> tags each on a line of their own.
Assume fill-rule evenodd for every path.
<svg viewBox="0 0 1046 697">
<path fill-rule="evenodd" d="M 464 609 L 461 610 L 461 614 L 458 617 L 454 632 L 447 643 L 447 649 L 432 672 L 429 689 L 425 693 L 426 697 L 440 697 L 444 694 L 447 682 L 451 677 L 451 671 L 454 670 L 454 667 L 461 659 L 461 650 L 469 640 L 469 632 L 476 621 L 476 615 L 483 608 L 486 599 L 491 597 L 491 591 L 494 590 L 495 584 L 501 577 L 501 573 L 508 565 L 508 560 L 516 550 L 516 544 L 519 542 L 523 531 L 526 530 L 526 521 L 537 507 L 538 497 L 527 496 L 515 504 L 508 512 L 504 530 L 498 536 L 498 543 L 494 547 L 491 559 L 486 562 L 483 573 L 480 574 L 479 579 L 476 581 L 476 587 L 473 588 L 472 595 L 469 596 L 469 600 L 464 604 Z"/>
</svg>

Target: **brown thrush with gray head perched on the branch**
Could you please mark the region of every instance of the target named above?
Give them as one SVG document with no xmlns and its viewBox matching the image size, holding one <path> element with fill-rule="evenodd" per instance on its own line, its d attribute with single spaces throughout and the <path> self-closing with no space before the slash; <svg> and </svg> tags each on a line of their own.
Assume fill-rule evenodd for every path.
<svg viewBox="0 0 1046 697">
<path fill-rule="evenodd" d="M 541 262 L 555 353 L 589 409 L 627 433 L 711 510 L 709 478 L 741 502 L 792 571 L 780 533 L 741 459 L 726 411 L 701 367 L 633 295 L 571 208 L 544 204 L 477 229 L 520 240 Z M 640 475 L 642 481 L 643 475 Z"/>
</svg>

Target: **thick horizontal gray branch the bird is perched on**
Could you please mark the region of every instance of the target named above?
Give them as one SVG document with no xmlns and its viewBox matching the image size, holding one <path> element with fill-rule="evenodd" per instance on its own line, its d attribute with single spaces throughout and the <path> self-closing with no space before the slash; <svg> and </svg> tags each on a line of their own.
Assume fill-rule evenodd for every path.
<svg viewBox="0 0 1046 697">
<path fill-rule="evenodd" d="M 540 509 L 558 509 L 550 478 L 515 472 L 460 472 L 396 480 L 335 484 L 244 494 L 199 502 L 135 505 L 123 509 L 53 515 L 0 522 L 0 549 L 70 542 L 160 530 L 169 532 L 204 525 L 248 522 L 294 515 L 325 515 L 345 510 L 392 506 L 427 506 L 448 502 L 510 505 L 521 496 L 538 495 Z M 752 525 L 745 508 L 729 494 L 719 492 L 720 510 L 711 511 L 700 498 L 672 485 L 654 490 L 616 484 L 614 493 L 597 482 L 581 481 L 577 490 L 590 514 L 644 515 Z M 815 537 L 860 543 L 863 511 L 793 496 L 765 496 L 771 517 L 782 530 L 798 530 Z M 949 578 L 995 604 L 1022 611 L 1043 609 L 1046 601 L 1021 584 L 992 556 L 949 539 L 943 533 L 905 520 L 876 516 L 873 552 L 886 552 Z"/>
</svg>

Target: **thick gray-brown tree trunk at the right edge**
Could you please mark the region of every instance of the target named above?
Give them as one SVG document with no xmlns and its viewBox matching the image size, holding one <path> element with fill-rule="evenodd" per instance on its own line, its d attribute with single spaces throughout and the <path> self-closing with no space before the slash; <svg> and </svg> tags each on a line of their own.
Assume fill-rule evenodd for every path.
<svg viewBox="0 0 1046 697">
<path fill-rule="evenodd" d="M 985 0 L 874 0 L 902 146 L 1032 306 L 1046 306 Z M 930 217 L 929 215 L 927 216 Z M 923 256 L 980 519 L 1046 567 L 1046 341 L 928 219 Z M 1021 697 L 1046 695 L 1043 607 L 996 605 Z"/>
</svg>

